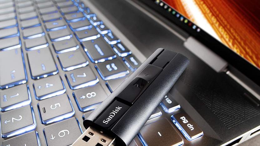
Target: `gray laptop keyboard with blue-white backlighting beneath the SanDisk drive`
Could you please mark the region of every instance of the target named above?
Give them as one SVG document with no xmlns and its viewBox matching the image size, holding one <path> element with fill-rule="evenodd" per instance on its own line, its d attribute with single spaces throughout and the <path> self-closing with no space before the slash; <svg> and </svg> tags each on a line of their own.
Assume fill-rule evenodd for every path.
<svg viewBox="0 0 260 146">
<path fill-rule="evenodd" d="M 72 144 L 82 120 L 140 64 L 79 0 L 0 0 L 2 145 Z M 180 108 L 168 100 L 149 120 Z M 145 129 L 161 129 L 156 123 L 174 130 L 165 119 L 148 124 L 138 135 L 144 145 L 153 143 Z"/>
</svg>

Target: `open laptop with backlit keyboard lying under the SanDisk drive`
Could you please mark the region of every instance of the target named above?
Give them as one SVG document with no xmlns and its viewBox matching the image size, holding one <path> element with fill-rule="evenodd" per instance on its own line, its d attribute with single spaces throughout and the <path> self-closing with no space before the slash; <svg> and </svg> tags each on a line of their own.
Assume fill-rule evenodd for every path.
<svg viewBox="0 0 260 146">
<path fill-rule="evenodd" d="M 240 26 L 251 24 L 223 33 L 247 34 L 249 44 L 232 40 L 248 45 L 239 53 L 209 21 L 227 2 L 192 2 L 1 0 L 2 146 L 71 145 L 85 117 L 160 47 L 191 63 L 131 145 L 237 145 L 259 134 L 259 20 L 245 21 L 255 6 L 230 2 L 236 18 L 247 12 Z"/>
</svg>

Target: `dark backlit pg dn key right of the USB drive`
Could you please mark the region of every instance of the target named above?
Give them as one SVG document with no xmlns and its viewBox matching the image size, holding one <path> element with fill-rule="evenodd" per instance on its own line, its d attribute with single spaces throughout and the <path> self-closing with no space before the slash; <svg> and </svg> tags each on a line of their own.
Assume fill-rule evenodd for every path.
<svg viewBox="0 0 260 146">
<path fill-rule="evenodd" d="M 188 140 L 194 140 L 203 135 L 203 131 L 187 113 L 182 111 L 178 114 L 173 114 L 171 118 L 176 127 Z"/>
</svg>

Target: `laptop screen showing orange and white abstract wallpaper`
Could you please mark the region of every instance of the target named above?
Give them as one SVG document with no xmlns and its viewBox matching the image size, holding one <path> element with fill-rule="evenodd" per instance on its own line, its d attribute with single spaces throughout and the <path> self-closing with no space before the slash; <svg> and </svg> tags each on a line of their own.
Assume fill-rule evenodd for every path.
<svg viewBox="0 0 260 146">
<path fill-rule="evenodd" d="M 260 1 L 155 0 L 200 33 L 201 29 L 260 69 Z"/>
</svg>

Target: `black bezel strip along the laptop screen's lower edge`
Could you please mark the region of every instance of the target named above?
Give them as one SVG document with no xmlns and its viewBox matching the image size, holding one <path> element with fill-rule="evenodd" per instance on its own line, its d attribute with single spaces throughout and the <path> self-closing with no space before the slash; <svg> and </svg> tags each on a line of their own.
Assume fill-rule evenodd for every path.
<svg viewBox="0 0 260 146">
<path fill-rule="evenodd" d="M 145 5 L 152 8 L 160 15 L 167 18 L 169 21 L 173 22 L 175 25 L 187 32 L 190 36 L 202 42 L 205 46 L 226 60 L 228 64 L 235 67 L 238 71 L 247 76 L 257 85 L 260 85 L 260 70 L 256 66 L 253 66 L 249 61 L 239 56 L 237 53 L 209 35 L 203 29 L 201 29 L 200 32 L 195 31 L 192 29 L 192 27 L 185 25 L 182 21 L 180 21 L 179 18 L 174 17 L 171 13 L 167 12 L 166 9 L 156 4 L 154 0 L 139 1 L 143 2 Z"/>
</svg>

